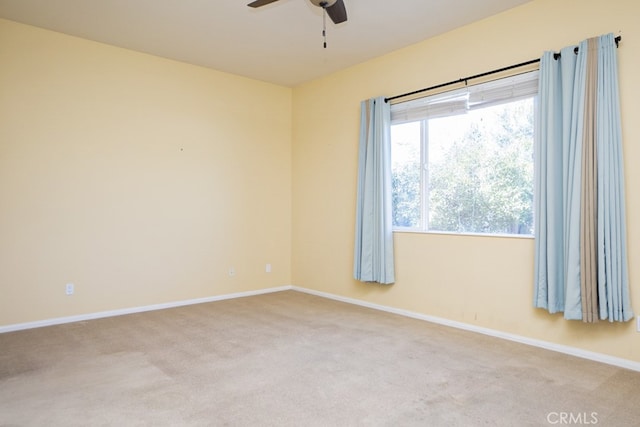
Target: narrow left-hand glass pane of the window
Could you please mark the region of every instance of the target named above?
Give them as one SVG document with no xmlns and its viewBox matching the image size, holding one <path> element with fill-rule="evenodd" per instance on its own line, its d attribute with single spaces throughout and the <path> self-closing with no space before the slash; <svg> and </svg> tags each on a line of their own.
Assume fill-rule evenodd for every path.
<svg viewBox="0 0 640 427">
<path fill-rule="evenodd" d="M 420 227 L 420 121 L 391 126 L 393 226 Z"/>
</svg>

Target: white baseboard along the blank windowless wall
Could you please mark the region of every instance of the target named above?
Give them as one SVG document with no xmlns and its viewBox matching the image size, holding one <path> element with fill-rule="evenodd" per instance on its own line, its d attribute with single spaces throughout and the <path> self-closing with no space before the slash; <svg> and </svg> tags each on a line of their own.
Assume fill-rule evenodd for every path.
<svg viewBox="0 0 640 427">
<path fill-rule="evenodd" d="M 233 298 L 250 297 L 253 295 L 268 294 L 272 292 L 288 291 L 291 286 L 280 286 L 277 288 L 260 289 L 257 291 L 237 292 L 233 294 L 217 295 L 213 297 L 197 298 L 183 301 L 174 301 L 164 304 L 146 305 L 142 307 L 123 308 L 119 310 L 101 311 L 98 313 L 80 314 L 77 316 L 58 317 L 54 319 L 38 320 L 36 322 L 17 323 L 13 325 L 0 326 L 0 334 L 5 332 L 21 331 L 24 329 L 42 328 L 44 326 L 61 325 L 64 323 L 81 322 L 84 320 L 101 319 L 104 317 L 122 316 L 124 314 L 143 313 L 145 311 L 163 310 L 165 308 L 182 307 L 185 305 L 202 304 L 205 302 L 223 301 Z"/>
</svg>

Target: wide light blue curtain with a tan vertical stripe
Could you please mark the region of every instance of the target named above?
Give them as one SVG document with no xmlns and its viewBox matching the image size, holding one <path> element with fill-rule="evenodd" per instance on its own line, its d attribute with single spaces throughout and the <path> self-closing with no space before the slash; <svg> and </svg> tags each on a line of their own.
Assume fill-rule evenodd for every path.
<svg viewBox="0 0 640 427">
<path fill-rule="evenodd" d="M 534 306 L 628 321 L 622 132 L 613 34 L 540 60 Z"/>
</svg>

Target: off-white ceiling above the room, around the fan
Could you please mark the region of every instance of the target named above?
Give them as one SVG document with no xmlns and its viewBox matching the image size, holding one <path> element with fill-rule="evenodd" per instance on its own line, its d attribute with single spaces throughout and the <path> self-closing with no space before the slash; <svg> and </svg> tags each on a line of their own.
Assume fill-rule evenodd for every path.
<svg viewBox="0 0 640 427">
<path fill-rule="evenodd" d="M 0 0 L 0 17 L 293 87 L 531 0 Z"/>
</svg>

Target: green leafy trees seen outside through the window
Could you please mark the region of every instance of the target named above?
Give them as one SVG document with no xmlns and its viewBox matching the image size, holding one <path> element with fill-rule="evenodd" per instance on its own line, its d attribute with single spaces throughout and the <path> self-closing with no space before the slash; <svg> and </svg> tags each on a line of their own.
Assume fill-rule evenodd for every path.
<svg viewBox="0 0 640 427">
<path fill-rule="evenodd" d="M 531 100 L 487 110 L 429 163 L 429 230 L 533 233 Z M 394 225 L 418 227 L 420 165 L 396 166 L 393 190 Z"/>
</svg>

